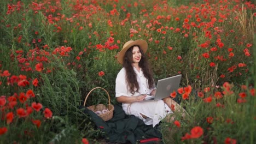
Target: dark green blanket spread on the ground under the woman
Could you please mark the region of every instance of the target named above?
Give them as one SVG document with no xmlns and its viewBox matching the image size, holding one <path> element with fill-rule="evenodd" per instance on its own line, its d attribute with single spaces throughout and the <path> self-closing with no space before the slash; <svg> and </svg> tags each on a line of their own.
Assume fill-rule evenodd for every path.
<svg viewBox="0 0 256 144">
<path fill-rule="evenodd" d="M 119 104 L 114 105 L 113 118 L 106 122 L 86 107 L 84 112 L 88 113 L 97 127 L 104 131 L 104 138 L 109 142 L 149 144 L 160 140 L 162 136 L 159 125 L 153 128 L 152 125 L 144 124 L 141 119 L 133 115 L 126 115 Z"/>
</svg>

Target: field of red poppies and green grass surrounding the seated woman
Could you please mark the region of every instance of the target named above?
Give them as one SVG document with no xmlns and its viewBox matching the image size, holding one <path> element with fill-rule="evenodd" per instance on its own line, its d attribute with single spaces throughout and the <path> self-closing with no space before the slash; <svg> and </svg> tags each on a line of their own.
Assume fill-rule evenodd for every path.
<svg viewBox="0 0 256 144">
<path fill-rule="evenodd" d="M 190 117 L 163 143 L 255 143 L 256 6 L 244 0 L 0 2 L 0 143 L 99 143 L 81 106 L 115 100 L 117 55 L 144 39 L 155 81 Z M 254 48 L 254 49 L 253 49 Z M 173 107 L 175 111 L 175 107 Z M 173 132 L 175 131 L 175 133 Z"/>
</svg>

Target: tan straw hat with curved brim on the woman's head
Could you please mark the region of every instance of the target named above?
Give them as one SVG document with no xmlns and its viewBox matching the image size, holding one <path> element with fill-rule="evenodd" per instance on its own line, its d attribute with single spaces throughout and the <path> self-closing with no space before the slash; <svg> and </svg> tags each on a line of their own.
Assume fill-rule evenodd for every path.
<svg viewBox="0 0 256 144">
<path fill-rule="evenodd" d="M 138 45 L 139 47 L 141 47 L 141 50 L 146 53 L 147 49 L 148 49 L 148 44 L 145 40 L 129 40 L 127 41 L 124 45 L 123 45 L 123 49 L 119 52 L 118 54 L 118 62 L 120 64 L 123 64 L 123 57 L 125 55 L 125 52 L 132 47 L 133 45 Z"/>
</svg>

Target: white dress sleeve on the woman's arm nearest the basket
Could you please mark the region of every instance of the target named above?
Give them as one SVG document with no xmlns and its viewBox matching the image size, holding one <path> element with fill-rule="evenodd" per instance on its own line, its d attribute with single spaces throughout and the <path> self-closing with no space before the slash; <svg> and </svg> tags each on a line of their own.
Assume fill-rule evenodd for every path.
<svg viewBox="0 0 256 144">
<path fill-rule="evenodd" d="M 115 97 L 120 97 L 121 95 L 129 96 L 124 70 L 120 70 L 117 79 L 115 79 Z"/>
</svg>

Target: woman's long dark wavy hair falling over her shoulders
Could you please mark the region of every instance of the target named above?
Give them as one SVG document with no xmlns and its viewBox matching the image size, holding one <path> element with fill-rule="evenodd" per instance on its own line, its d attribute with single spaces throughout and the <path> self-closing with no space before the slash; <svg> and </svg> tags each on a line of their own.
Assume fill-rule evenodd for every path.
<svg viewBox="0 0 256 144">
<path fill-rule="evenodd" d="M 135 92 L 138 92 L 139 90 L 139 84 L 137 81 L 136 73 L 133 70 L 132 63 L 132 50 L 133 47 L 138 45 L 131 46 L 124 55 L 123 58 L 123 67 L 126 71 L 126 82 L 129 87 L 129 91 L 134 94 Z M 139 46 L 138 46 L 139 47 Z M 154 88 L 154 79 L 153 79 L 153 71 L 149 65 L 148 59 L 146 58 L 145 53 L 141 50 L 141 47 L 139 47 L 139 51 L 141 52 L 141 61 L 139 61 L 139 67 L 141 67 L 144 76 L 148 80 L 148 88 Z M 135 91 L 136 88 L 136 91 Z"/>
</svg>

